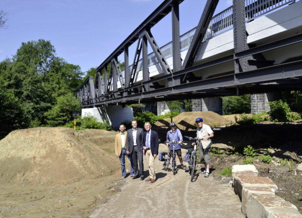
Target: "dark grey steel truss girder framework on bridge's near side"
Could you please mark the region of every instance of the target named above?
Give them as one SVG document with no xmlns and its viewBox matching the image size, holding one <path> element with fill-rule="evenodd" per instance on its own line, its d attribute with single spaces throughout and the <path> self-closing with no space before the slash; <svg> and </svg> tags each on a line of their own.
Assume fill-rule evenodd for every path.
<svg viewBox="0 0 302 218">
<path fill-rule="evenodd" d="M 97 68 L 95 89 L 91 78 L 77 89 L 83 107 L 93 107 L 104 104 L 126 104 L 141 101 L 162 101 L 172 99 L 189 99 L 199 97 L 235 95 L 245 93 L 268 92 L 270 90 L 300 89 L 302 78 L 302 62 L 293 61 L 273 65 L 273 61 L 264 59 L 262 52 L 283 46 L 302 42 L 302 35 L 255 46 L 247 44 L 245 23 L 247 15 L 244 0 L 233 0 L 234 53 L 214 61 L 192 66 L 197 51 L 202 43 L 207 27 L 216 9 L 218 0 L 207 0 L 204 11 L 188 49 L 186 58 L 181 64 L 179 46 L 179 4 L 183 0 L 165 0 L 155 11 L 140 24 L 131 35 Z M 159 46 L 151 34 L 151 27 L 172 12 L 173 29 L 173 70 L 170 69 Z M 250 15 L 248 15 L 250 16 Z M 132 69 L 129 69 L 129 46 L 137 41 L 136 53 Z M 148 71 L 149 41 L 164 76 L 151 78 Z M 121 73 L 118 55 L 124 52 L 125 76 Z M 134 82 L 137 77 L 137 65 L 140 56 L 143 62 L 143 81 Z M 194 72 L 219 65 L 229 61 L 234 62 L 234 72 L 201 79 Z M 109 75 L 107 75 L 107 67 Z M 102 77 L 104 71 L 104 80 Z M 117 87 L 117 78 L 120 87 Z M 168 85 L 159 85 L 160 81 L 168 81 Z M 278 84 L 278 85 L 277 85 Z M 276 88 L 276 86 L 278 88 Z M 190 94 L 190 95 L 188 95 Z"/>
</svg>

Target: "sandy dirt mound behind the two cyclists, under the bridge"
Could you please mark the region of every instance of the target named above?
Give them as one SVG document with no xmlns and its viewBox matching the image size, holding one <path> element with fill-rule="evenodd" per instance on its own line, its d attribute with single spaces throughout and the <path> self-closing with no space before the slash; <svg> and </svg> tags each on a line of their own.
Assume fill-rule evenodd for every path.
<svg viewBox="0 0 302 218">
<path fill-rule="evenodd" d="M 203 122 L 211 127 L 221 126 L 227 123 L 226 119 L 212 111 L 184 112 L 174 117 L 173 122 L 176 123 L 180 130 L 194 131 L 196 130 L 195 119 L 198 117 L 202 118 Z M 161 119 L 155 122 L 154 125 L 161 128 L 168 128 L 170 122 L 171 119 Z"/>
</svg>

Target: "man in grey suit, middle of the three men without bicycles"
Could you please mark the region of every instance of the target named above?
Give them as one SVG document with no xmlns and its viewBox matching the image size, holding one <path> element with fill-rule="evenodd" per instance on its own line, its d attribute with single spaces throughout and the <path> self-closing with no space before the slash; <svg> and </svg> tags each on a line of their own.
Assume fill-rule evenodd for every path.
<svg viewBox="0 0 302 218">
<path fill-rule="evenodd" d="M 143 165 L 143 129 L 137 128 L 137 121 L 133 119 L 131 121 L 132 128 L 127 131 L 126 137 L 126 153 L 131 155 L 132 164 L 134 168 L 134 177 L 140 177 L 144 180 L 144 165 Z M 137 160 L 139 163 L 139 169 L 137 166 Z"/>
</svg>

